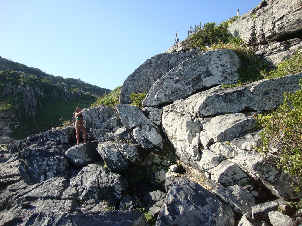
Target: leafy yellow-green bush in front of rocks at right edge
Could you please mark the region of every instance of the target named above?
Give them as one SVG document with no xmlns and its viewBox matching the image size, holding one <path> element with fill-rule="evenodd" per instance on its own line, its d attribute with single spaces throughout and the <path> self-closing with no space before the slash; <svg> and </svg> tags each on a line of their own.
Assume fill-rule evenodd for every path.
<svg viewBox="0 0 302 226">
<path fill-rule="evenodd" d="M 302 188 L 302 88 L 283 95 L 284 104 L 258 120 L 264 131 L 260 133 L 263 145 L 257 150 L 291 175 L 299 191 Z"/>
</svg>

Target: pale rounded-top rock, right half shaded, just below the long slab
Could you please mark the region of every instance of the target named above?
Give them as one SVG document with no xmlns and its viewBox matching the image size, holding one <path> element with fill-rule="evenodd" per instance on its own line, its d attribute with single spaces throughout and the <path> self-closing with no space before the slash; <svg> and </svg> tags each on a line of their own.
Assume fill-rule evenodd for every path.
<svg viewBox="0 0 302 226">
<path fill-rule="evenodd" d="M 218 115 L 204 124 L 200 141 L 203 146 L 208 146 L 215 142 L 232 140 L 256 124 L 257 121 L 252 116 L 243 113 Z"/>
</svg>

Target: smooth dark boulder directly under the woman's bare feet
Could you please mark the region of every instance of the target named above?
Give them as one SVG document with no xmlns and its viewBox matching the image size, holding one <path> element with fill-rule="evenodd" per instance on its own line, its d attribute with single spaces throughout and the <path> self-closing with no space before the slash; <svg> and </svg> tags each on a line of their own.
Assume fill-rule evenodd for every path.
<svg viewBox="0 0 302 226">
<path fill-rule="evenodd" d="M 93 162 L 101 160 L 101 156 L 97 152 L 98 142 L 81 143 L 69 148 L 65 155 L 76 166 L 85 166 Z"/>
</svg>

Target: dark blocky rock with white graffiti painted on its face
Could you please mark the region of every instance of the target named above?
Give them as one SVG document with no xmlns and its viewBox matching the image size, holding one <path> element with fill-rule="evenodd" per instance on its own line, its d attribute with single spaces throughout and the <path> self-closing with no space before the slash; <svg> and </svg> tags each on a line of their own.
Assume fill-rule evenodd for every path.
<svg viewBox="0 0 302 226">
<path fill-rule="evenodd" d="M 64 152 L 69 147 L 46 138 L 24 147 L 19 151 L 19 172 L 24 182 L 40 183 L 66 170 L 69 162 Z"/>
</svg>

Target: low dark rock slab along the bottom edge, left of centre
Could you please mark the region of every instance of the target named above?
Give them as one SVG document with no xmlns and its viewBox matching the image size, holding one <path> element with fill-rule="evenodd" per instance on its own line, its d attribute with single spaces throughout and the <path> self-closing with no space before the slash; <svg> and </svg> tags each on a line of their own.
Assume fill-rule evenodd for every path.
<svg viewBox="0 0 302 226">
<path fill-rule="evenodd" d="M 34 214 L 24 226 L 72 226 L 72 225 L 102 225 L 102 226 L 148 226 L 142 212 L 133 209 L 127 211 L 110 211 L 102 214 L 83 215 L 82 213 L 39 213 Z"/>
</svg>

